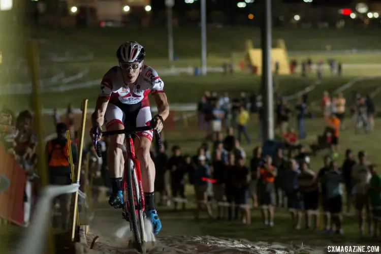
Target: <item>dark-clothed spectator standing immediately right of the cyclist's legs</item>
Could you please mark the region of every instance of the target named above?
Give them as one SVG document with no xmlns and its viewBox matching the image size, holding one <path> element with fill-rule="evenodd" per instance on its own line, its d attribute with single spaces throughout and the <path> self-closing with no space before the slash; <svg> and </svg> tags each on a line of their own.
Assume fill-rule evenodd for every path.
<svg viewBox="0 0 381 254">
<path fill-rule="evenodd" d="M 160 205 L 165 205 L 168 200 L 168 154 L 164 144 L 158 150 L 155 160 L 155 191 L 160 193 Z"/>
</svg>

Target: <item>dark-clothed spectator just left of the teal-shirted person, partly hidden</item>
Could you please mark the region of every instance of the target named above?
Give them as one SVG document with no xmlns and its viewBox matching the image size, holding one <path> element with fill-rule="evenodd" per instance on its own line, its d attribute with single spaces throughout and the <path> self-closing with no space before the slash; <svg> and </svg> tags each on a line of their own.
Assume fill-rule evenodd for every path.
<svg viewBox="0 0 381 254">
<path fill-rule="evenodd" d="M 324 218 L 324 232 L 330 232 L 331 228 L 331 215 L 328 210 L 328 201 L 327 201 L 327 184 L 325 181 L 325 175 L 330 170 L 330 163 L 332 162 L 332 158 L 329 155 L 324 156 L 324 166 L 317 173 L 317 181 L 320 184 L 320 192 L 321 192 L 321 203 L 323 208 L 323 218 Z"/>
</svg>

